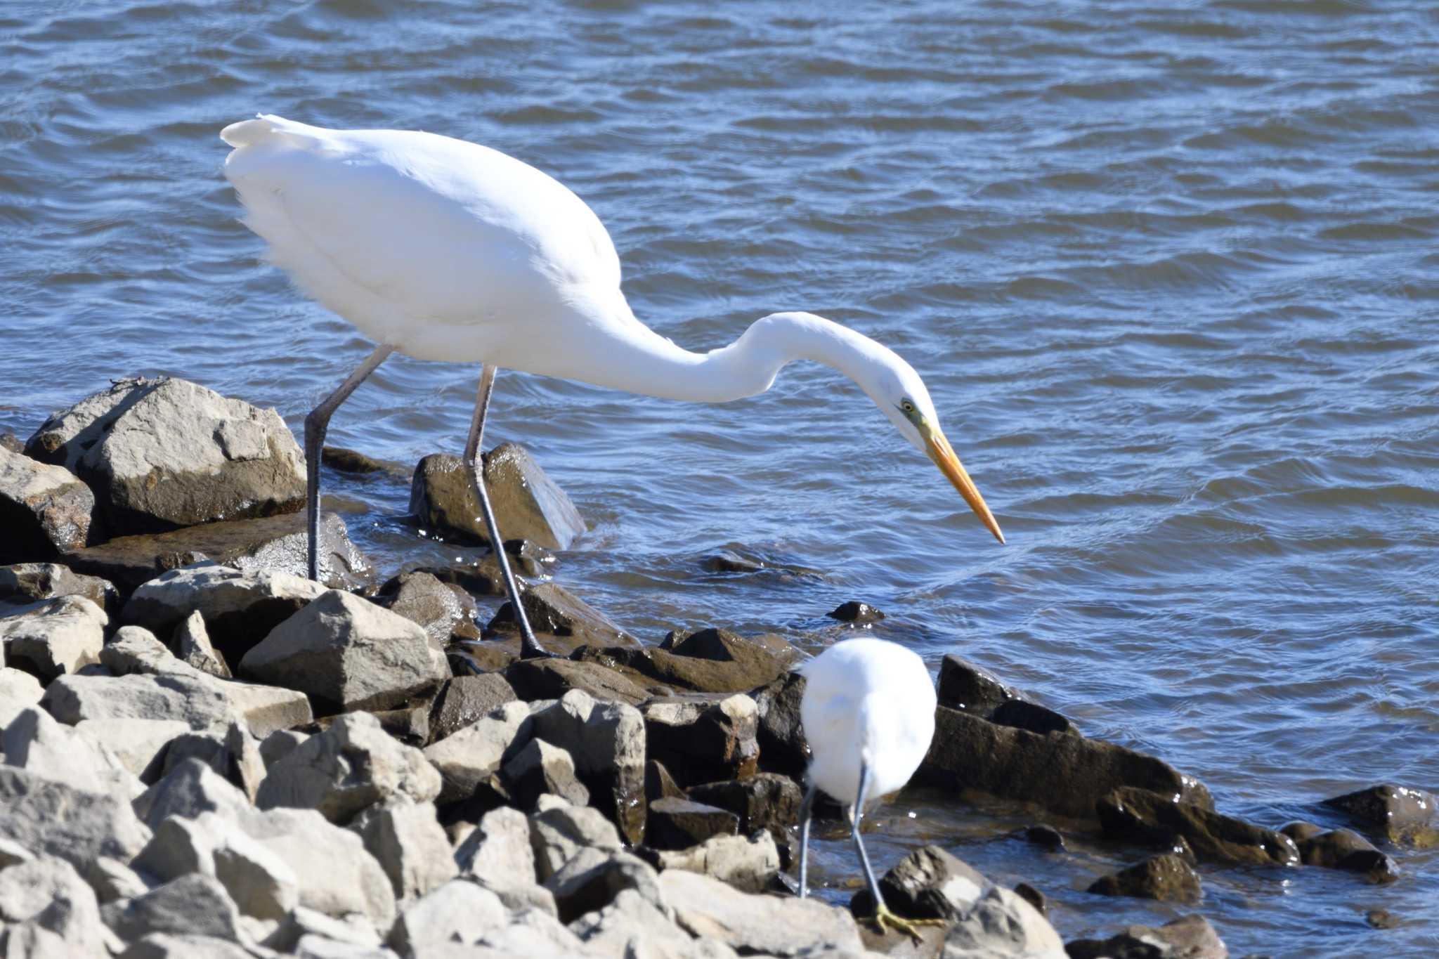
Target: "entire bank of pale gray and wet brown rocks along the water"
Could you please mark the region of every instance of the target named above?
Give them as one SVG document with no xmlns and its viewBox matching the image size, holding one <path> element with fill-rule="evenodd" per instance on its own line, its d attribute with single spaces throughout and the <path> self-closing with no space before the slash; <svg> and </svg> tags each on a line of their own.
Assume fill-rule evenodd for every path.
<svg viewBox="0 0 1439 959">
<path fill-rule="evenodd" d="M 452 460 L 325 453 L 410 476 L 426 535 L 484 542 Z M 550 578 L 584 529 L 563 490 L 521 447 L 485 460 L 557 659 L 517 659 L 508 604 L 478 621 L 492 555 L 381 579 L 331 512 L 305 579 L 304 460 L 272 410 L 125 380 L 0 437 L 0 955 L 1227 955 L 1197 914 L 1065 943 L 1042 877 L 996 886 L 935 845 L 882 881 L 944 920 L 921 942 L 856 920 L 868 893 L 796 899 L 804 653 L 626 634 Z M 1199 863 L 1387 883 L 1439 844 L 1435 797 L 1389 784 L 1315 808 L 1358 831 L 1226 815 L 958 656 L 938 699 L 915 782 L 1020 804 L 1033 843 L 1063 844 L 1052 818 L 1132 850 L 1097 896 L 1193 904 Z"/>
</svg>

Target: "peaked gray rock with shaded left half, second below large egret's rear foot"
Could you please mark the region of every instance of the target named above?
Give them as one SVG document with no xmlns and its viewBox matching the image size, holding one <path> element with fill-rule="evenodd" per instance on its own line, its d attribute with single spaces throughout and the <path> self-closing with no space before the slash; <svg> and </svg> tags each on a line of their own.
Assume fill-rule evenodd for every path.
<svg viewBox="0 0 1439 959">
<path fill-rule="evenodd" d="M 318 809 L 344 824 L 374 802 L 429 802 L 439 792 L 440 774 L 419 749 L 391 739 L 370 713 L 347 713 L 271 766 L 255 802 Z"/>
</svg>

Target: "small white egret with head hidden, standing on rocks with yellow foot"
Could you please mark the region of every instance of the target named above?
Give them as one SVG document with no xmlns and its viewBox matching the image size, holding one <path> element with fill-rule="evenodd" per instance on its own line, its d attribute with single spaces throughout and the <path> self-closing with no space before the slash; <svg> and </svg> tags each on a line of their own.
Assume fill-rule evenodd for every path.
<svg viewBox="0 0 1439 959">
<path fill-rule="evenodd" d="M 859 838 L 865 801 L 895 792 L 909 781 L 934 738 L 934 680 L 912 650 L 886 640 L 845 640 L 802 670 L 804 696 L 800 720 L 813 759 L 800 804 L 800 899 L 809 894 L 809 830 L 816 789 L 849 811 L 849 834 L 875 899 L 875 924 L 905 932 L 943 924 L 940 919 L 905 919 L 889 912 L 879 893 L 869 854 Z"/>
</svg>

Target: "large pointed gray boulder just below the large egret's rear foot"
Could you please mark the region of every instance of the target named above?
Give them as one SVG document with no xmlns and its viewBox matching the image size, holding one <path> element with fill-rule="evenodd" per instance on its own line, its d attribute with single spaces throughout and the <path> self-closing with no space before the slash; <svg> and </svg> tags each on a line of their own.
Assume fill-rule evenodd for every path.
<svg viewBox="0 0 1439 959">
<path fill-rule="evenodd" d="M 338 712 L 399 706 L 449 679 L 449 663 L 414 623 L 330 589 L 271 630 L 240 671 Z"/>
</svg>

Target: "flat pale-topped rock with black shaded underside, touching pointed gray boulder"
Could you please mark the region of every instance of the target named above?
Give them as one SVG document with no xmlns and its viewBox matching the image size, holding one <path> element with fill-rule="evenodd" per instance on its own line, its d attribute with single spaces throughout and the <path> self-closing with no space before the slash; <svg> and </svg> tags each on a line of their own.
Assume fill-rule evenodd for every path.
<svg viewBox="0 0 1439 959">
<path fill-rule="evenodd" d="M 285 572 L 240 572 L 216 562 L 171 569 L 150 579 L 125 602 L 121 620 L 170 635 L 191 612 L 226 663 L 240 657 L 325 588 Z"/>
</svg>

